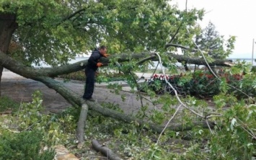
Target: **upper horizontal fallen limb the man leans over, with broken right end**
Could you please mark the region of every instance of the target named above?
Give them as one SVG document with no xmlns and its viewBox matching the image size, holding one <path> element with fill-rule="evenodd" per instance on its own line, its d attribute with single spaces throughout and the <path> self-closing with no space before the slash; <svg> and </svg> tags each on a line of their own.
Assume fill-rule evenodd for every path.
<svg viewBox="0 0 256 160">
<path fill-rule="evenodd" d="M 112 55 L 115 57 L 118 57 L 118 62 L 122 63 L 125 61 L 130 61 L 131 59 L 143 59 L 140 61 L 139 64 L 144 63 L 145 61 L 158 61 L 157 56 L 154 53 L 133 53 L 128 55 L 127 53 L 120 53 L 120 54 L 115 54 Z M 148 57 L 148 58 L 145 58 Z M 102 58 L 101 61 L 102 63 L 107 66 L 107 63 L 110 63 L 110 58 Z M 198 65 L 206 65 L 206 61 L 203 60 L 203 58 L 190 58 L 185 55 L 175 55 L 172 53 L 169 53 L 169 59 L 171 60 L 172 58 L 177 59 L 178 62 L 180 63 L 192 63 L 192 64 L 198 64 Z M 28 79 L 34 79 L 37 80 L 37 75 L 40 74 L 40 76 L 50 76 L 50 77 L 55 77 L 61 74 L 69 74 L 75 71 L 80 71 L 81 69 L 85 68 L 87 65 L 87 60 L 84 61 L 79 61 L 76 63 L 72 63 L 69 65 L 63 65 L 63 66 L 58 66 L 54 68 L 31 68 L 24 66 L 17 61 L 14 61 L 12 58 L 10 58 L 8 55 L 4 53 L 0 53 L 0 65 L 5 66 L 5 68 L 12 68 L 12 71 L 14 73 L 19 73 L 21 76 L 25 76 Z M 213 62 L 209 63 L 210 66 L 231 66 L 232 63 L 227 60 L 221 60 L 221 59 L 215 59 Z M 22 72 L 20 72 L 22 71 Z"/>
</svg>

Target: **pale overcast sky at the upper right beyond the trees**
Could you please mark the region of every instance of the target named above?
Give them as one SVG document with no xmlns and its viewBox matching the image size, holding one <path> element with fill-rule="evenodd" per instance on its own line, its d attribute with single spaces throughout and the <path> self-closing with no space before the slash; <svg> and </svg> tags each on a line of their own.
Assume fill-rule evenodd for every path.
<svg viewBox="0 0 256 160">
<path fill-rule="evenodd" d="M 186 0 L 172 0 L 179 9 L 185 9 Z M 256 0 L 187 0 L 187 9 L 205 9 L 200 25 L 204 28 L 212 22 L 216 31 L 236 36 L 234 51 L 229 58 L 252 58 L 252 41 L 256 42 Z M 256 43 L 254 44 L 256 58 Z"/>
</svg>

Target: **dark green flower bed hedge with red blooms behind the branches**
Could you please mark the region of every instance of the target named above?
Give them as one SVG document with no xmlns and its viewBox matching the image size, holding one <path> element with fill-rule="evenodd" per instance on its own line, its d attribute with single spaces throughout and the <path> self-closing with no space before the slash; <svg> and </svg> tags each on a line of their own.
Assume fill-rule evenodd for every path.
<svg viewBox="0 0 256 160">
<path fill-rule="evenodd" d="M 166 76 L 169 84 L 177 90 L 178 94 L 190 95 L 194 97 L 213 97 L 222 91 L 226 91 L 229 94 L 236 94 L 241 99 L 246 97 L 245 94 L 250 97 L 256 95 L 256 76 L 255 74 L 219 74 L 221 80 L 216 79 L 208 71 L 195 71 L 192 75 L 182 76 Z M 156 94 L 163 94 L 168 92 L 169 94 L 175 94 L 173 89 L 164 80 L 164 75 L 157 75 L 151 77 L 146 81 L 148 87 L 152 89 Z M 224 86 L 229 84 L 234 87 Z M 141 87 L 143 88 L 143 87 Z M 239 89 L 242 92 L 239 92 Z M 245 94 L 244 94 L 244 93 Z"/>
</svg>

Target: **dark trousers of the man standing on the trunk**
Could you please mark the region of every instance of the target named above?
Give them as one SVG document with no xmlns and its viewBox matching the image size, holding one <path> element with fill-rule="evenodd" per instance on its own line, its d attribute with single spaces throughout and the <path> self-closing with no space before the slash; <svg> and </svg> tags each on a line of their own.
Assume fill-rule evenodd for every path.
<svg viewBox="0 0 256 160">
<path fill-rule="evenodd" d="M 92 94 L 94 92 L 94 82 L 95 82 L 95 71 L 92 68 L 87 68 L 85 70 L 85 75 L 87 76 L 87 80 L 85 82 L 84 89 L 84 99 L 91 99 Z"/>
</svg>

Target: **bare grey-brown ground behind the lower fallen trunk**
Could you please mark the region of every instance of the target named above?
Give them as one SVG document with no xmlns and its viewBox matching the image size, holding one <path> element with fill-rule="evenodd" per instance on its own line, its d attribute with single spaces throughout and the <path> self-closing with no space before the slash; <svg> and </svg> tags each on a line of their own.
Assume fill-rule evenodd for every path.
<svg viewBox="0 0 256 160">
<path fill-rule="evenodd" d="M 84 83 L 82 81 L 69 81 L 65 82 L 64 85 L 78 95 L 84 93 Z M 126 113 L 136 112 L 141 106 L 141 102 L 136 99 L 136 94 L 128 92 L 127 87 L 123 89 L 120 95 L 125 97 L 125 101 L 122 100 L 120 95 L 110 92 L 110 89 L 107 89 L 105 84 L 96 84 L 93 98 L 97 99 L 99 103 L 109 102 L 114 105 L 119 105 Z M 49 89 L 45 84 L 39 81 L 25 79 L 9 71 L 3 72 L 1 79 L 1 96 L 10 97 L 16 102 L 31 102 L 32 93 L 35 92 L 35 90 L 40 90 L 40 92 L 43 93 L 43 105 L 49 112 L 61 112 L 67 107 L 71 107 L 66 99 L 61 97 L 61 95 L 56 93 L 53 89 Z M 144 100 L 145 104 L 146 102 L 147 101 Z M 153 108 L 155 106 L 151 105 L 151 107 Z"/>
</svg>

